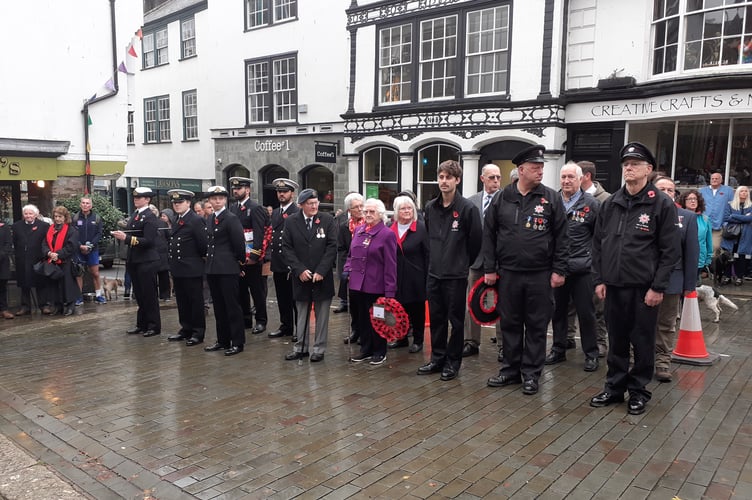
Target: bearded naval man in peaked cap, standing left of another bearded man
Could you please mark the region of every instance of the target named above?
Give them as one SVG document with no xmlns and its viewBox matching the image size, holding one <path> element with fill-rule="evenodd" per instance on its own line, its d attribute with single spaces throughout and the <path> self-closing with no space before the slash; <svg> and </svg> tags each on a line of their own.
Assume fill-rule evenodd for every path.
<svg viewBox="0 0 752 500">
<path fill-rule="evenodd" d="M 269 212 L 262 205 L 251 199 L 251 184 L 247 177 L 230 177 L 230 186 L 235 203 L 230 205 L 230 212 L 235 214 L 243 226 L 245 235 L 246 258 L 240 274 L 240 305 L 243 308 L 245 327 L 253 325 L 251 297 L 256 308 L 256 326 L 251 333 L 266 330 L 266 276 L 262 275 L 262 266 L 266 244 L 266 228 L 269 227 Z M 269 232 L 271 236 L 271 231 Z M 250 290 L 250 294 L 248 293 Z"/>
</svg>

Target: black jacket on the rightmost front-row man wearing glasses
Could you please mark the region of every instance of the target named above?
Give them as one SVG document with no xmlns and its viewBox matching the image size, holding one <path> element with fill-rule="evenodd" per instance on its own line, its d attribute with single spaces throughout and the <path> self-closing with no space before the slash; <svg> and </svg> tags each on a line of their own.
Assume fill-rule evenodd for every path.
<svg viewBox="0 0 752 500">
<path fill-rule="evenodd" d="M 593 236 L 596 285 L 664 292 L 681 256 L 676 207 L 653 184 L 635 196 L 622 187 L 601 205 Z"/>
</svg>

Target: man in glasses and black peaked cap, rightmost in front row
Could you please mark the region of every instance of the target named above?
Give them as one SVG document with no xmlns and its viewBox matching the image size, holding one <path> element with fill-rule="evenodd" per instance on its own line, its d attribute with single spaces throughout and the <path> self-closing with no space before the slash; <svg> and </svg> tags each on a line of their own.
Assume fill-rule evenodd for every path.
<svg viewBox="0 0 752 500">
<path fill-rule="evenodd" d="M 628 391 L 627 411 L 639 415 L 652 395 L 646 386 L 655 365 L 658 306 L 681 257 L 681 235 L 673 201 L 648 182 L 655 168 L 650 150 L 630 142 L 620 157 L 624 187 L 601 205 L 593 235 L 595 293 L 606 301 L 608 373 L 590 406 L 621 403 Z"/>
</svg>

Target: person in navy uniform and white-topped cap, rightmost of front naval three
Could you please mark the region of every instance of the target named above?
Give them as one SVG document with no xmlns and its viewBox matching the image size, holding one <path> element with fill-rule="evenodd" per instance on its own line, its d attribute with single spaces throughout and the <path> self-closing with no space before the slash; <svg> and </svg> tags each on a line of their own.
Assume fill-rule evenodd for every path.
<svg viewBox="0 0 752 500">
<path fill-rule="evenodd" d="M 207 193 L 209 199 L 229 195 L 222 186 L 212 186 Z M 240 262 L 245 260 L 243 226 L 226 207 L 210 215 L 207 226 L 206 281 L 214 303 L 217 342 L 204 350 L 224 350 L 225 356 L 232 356 L 243 352 L 245 345 L 243 309 L 238 300 Z"/>
</svg>

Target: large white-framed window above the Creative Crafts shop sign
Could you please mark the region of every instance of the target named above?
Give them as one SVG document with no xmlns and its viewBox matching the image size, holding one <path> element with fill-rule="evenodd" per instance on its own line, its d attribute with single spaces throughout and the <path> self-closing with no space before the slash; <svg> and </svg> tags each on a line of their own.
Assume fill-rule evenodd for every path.
<svg viewBox="0 0 752 500">
<path fill-rule="evenodd" d="M 752 63 L 752 0 L 655 0 L 653 74 Z"/>
</svg>

